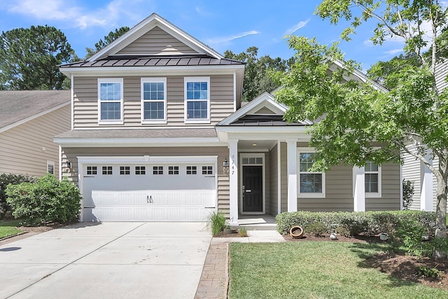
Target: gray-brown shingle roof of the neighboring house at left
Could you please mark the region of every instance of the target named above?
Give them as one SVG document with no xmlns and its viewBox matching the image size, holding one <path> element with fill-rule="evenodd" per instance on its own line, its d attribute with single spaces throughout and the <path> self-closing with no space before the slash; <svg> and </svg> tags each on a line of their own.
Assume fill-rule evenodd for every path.
<svg viewBox="0 0 448 299">
<path fill-rule="evenodd" d="M 70 90 L 1 90 L 0 128 L 70 101 Z"/>
</svg>

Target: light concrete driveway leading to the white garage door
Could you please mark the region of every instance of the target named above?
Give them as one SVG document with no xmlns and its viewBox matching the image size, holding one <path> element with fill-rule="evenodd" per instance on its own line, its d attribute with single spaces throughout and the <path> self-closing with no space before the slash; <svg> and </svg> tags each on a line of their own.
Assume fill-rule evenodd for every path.
<svg viewBox="0 0 448 299">
<path fill-rule="evenodd" d="M 79 223 L 0 246 L 0 298 L 194 298 L 205 223 Z"/>
</svg>

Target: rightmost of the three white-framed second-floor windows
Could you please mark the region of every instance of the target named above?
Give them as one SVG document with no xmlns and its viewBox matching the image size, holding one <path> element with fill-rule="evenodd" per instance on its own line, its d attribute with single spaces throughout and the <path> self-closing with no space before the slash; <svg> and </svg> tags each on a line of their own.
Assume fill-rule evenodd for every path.
<svg viewBox="0 0 448 299">
<path fill-rule="evenodd" d="M 210 123 L 210 78 L 185 78 L 185 122 Z"/>
</svg>

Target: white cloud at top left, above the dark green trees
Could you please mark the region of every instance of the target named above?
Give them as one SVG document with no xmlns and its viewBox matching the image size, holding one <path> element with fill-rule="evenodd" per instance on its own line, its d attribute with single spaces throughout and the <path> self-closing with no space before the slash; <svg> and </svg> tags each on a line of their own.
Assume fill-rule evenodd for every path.
<svg viewBox="0 0 448 299">
<path fill-rule="evenodd" d="M 64 0 L 18 0 L 8 6 L 8 13 L 25 15 L 38 20 L 57 20 L 65 27 L 113 27 L 123 16 L 131 20 L 141 20 L 134 4 L 140 0 L 113 0 L 103 8 L 94 11 L 80 6 L 70 6 Z"/>
</svg>

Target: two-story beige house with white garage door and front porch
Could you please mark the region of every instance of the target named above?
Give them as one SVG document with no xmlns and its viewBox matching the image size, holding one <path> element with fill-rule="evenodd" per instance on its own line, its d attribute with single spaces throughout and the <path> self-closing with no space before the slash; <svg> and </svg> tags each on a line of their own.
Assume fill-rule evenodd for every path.
<svg viewBox="0 0 448 299">
<path fill-rule="evenodd" d="M 287 107 L 269 93 L 241 107 L 244 63 L 159 15 L 60 70 L 72 127 L 55 141 L 83 221 L 400 209 L 399 165 L 308 172 L 312 124 L 283 121 Z"/>
</svg>

